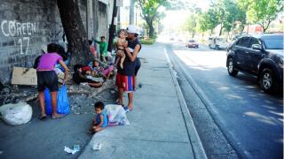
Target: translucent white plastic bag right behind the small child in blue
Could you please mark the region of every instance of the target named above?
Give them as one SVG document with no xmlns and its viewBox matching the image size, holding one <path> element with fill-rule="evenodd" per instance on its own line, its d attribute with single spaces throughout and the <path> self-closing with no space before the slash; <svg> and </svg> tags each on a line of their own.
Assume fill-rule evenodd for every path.
<svg viewBox="0 0 284 159">
<path fill-rule="evenodd" d="M 123 110 L 121 105 L 107 104 L 105 109 L 108 117 L 108 125 L 130 125 L 125 110 Z"/>
</svg>

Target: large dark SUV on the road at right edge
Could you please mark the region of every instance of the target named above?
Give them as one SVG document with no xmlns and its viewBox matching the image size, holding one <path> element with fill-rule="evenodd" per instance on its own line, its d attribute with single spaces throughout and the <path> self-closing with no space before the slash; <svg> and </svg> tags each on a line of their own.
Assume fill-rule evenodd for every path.
<svg viewBox="0 0 284 159">
<path fill-rule="evenodd" d="M 238 72 L 255 76 L 264 92 L 283 87 L 284 34 L 246 35 L 227 49 L 229 75 Z"/>
</svg>

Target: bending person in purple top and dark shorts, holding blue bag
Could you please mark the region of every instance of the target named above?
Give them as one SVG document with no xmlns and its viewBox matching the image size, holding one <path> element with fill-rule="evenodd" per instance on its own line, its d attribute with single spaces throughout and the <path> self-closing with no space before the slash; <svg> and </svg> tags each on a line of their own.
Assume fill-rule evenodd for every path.
<svg viewBox="0 0 284 159">
<path fill-rule="evenodd" d="M 57 91 L 59 90 L 58 85 L 58 76 L 54 71 L 55 64 L 59 63 L 65 70 L 64 81 L 67 79 L 67 74 L 69 69 L 67 65 L 63 62 L 63 58 L 57 54 L 58 47 L 56 44 L 49 44 L 47 46 L 47 54 L 43 54 L 39 59 L 38 66 L 36 67 L 36 76 L 37 76 L 37 89 L 38 89 L 38 98 L 40 102 L 40 107 L 42 110 L 40 119 L 46 117 L 44 110 L 44 89 L 45 87 L 49 88 L 51 92 L 51 105 L 52 105 L 52 118 L 63 117 L 57 113 Z"/>
</svg>

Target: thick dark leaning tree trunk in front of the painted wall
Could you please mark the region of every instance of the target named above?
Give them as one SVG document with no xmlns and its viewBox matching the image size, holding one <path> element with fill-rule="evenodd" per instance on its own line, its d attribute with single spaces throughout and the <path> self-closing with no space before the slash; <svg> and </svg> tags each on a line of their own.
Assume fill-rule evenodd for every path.
<svg viewBox="0 0 284 159">
<path fill-rule="evenodd" d="M 67 36 L 68 52 L 71 53 L 71 66 L 87 64 L 91 60 L 87 34 L 83 27 L 77 0 L 57 0 L 60 19 Z"/>
</svg>

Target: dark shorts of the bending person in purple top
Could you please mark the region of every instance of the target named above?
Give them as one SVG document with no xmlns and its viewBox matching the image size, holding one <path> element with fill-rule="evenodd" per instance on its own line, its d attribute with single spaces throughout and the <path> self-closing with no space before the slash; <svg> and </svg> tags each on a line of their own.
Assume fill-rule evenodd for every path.
<svg viewBox="0 0 284 159">
<path fill-rule="evenodd" d="M 44 91 L 47 87 L 51 92 L 59 90 L 59 78 L 54 71 L 36 72 L 37 76 L 37 90 L 38 92 Z"/>
</svg>

